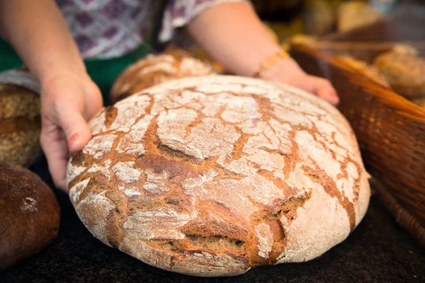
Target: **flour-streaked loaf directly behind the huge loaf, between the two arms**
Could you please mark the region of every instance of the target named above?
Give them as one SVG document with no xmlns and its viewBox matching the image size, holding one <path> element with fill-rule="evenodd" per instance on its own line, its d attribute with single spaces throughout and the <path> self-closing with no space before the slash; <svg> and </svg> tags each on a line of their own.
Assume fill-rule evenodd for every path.
<svg viewBox="0 0 425 283">
<path fill-rule="evenodd" d="M 113 83 L 111 103 L 171 79 L 212 74 L 212 68 L 179 49 L 150 54 L 127 67 Z"/>
</svg>

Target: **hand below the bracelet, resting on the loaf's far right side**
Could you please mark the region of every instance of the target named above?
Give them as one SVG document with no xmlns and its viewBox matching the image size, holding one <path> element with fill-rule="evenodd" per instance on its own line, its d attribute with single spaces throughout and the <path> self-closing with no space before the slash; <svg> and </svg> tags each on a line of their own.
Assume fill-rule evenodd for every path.
<svg viewBox="0 0 425 283">
<path fill-rule="evenodd" d="M 323 98 L 333 105 L 339 103 L 339 97 L 328 80 L 306 74 L 297 62 L 290 57 L 279 59 L 270 67 L 263 69 L 260 77 L 288 83 L 309 93 L 314 93 L 319 98 Z"/>
</svg>

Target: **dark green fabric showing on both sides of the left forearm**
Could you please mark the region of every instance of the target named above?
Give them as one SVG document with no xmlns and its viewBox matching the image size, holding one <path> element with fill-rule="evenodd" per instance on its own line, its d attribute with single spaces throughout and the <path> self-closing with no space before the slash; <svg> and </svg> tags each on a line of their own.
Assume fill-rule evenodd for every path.
<svg viewBox="0 0 425 283">
<path fill-rule="evenodd" d="M 151 53 L 152 42 L 153 37 L 147 37 L 145 43 L 140 45 L 137 50 L 134 50 L 123 57 L 115 59 L 86 59 L 84 61 L 87 73 L 101 89 L 103 100 L 106 104 L 109 102 L 109 91 L 111 90 L 111 86 L 113 81 L 115 81 L 115 78 L 121 71 L 123 71 L 123 69 L 125 69 L 125 67 L 128 67 L 128 65 L 137 61 L 137 59 L 145 57 L 147 54 Z M 23 62 L 19 58 L 18 54 L 16 54 L 13 48 L 0 37 L 0 71 L 20 68 L 22 66 Z"/>
</svg>

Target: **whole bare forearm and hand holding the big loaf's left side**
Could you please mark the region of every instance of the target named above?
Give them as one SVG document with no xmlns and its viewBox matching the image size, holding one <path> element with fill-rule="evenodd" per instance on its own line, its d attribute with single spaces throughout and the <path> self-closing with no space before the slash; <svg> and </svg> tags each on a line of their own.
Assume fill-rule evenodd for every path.
<svg viewBox="0 0 425 283">
<path fill-rule="evenodd" d="M 102 106 L 67 23 L 54 0 L 0 0 L 0 30 L 40 81 L 40 142 L 57 187 L 66 187 L 69 151 L 91 138 L 87 120 Z"/>
</svg>

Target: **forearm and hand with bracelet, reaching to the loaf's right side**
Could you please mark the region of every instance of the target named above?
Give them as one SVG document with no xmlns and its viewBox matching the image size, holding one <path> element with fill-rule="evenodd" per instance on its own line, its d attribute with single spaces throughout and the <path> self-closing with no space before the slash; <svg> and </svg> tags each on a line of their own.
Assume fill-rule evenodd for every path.
<svg viewBox="0 0 425 283">
<path fill-rule="evenodd" d="M 280 45 L 244 3 L 212 6 L 193 19 L 188 30 L 212 59 L 241 76 L 252 76 L 265 59 L 280 52 Z M 305 74 L 290 57 L 261 71 L 261 78 L 302 88 L 332 104 L 339 101 L 329 81 Z"/>
</svg>

